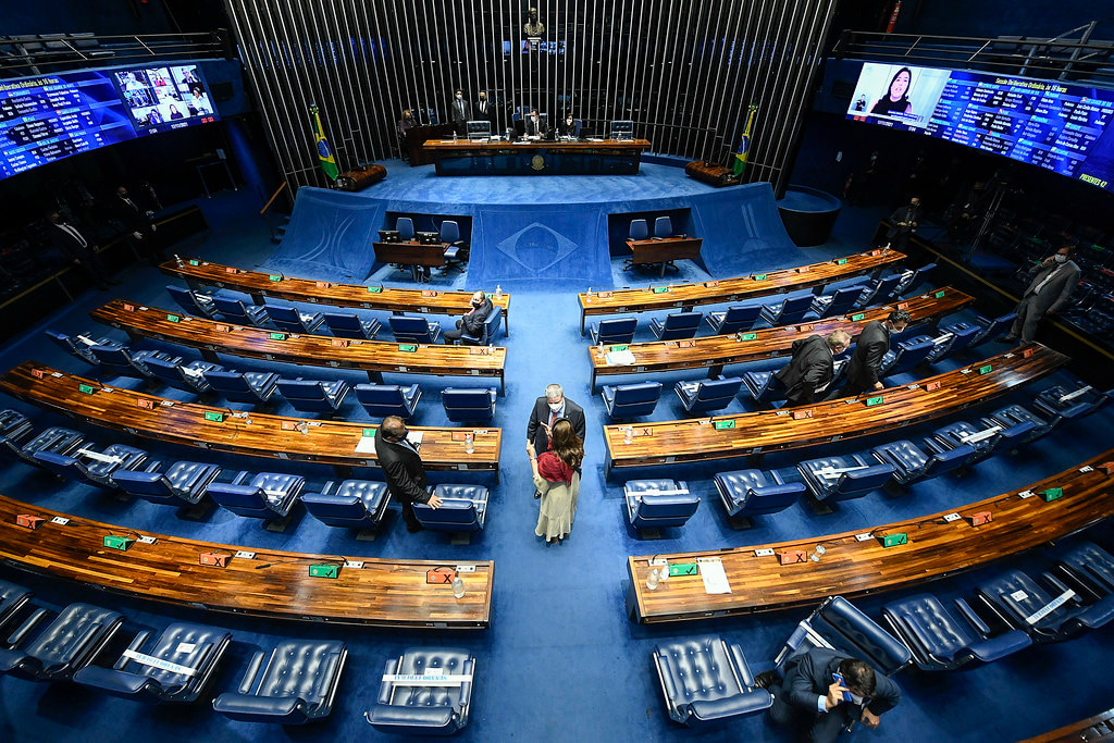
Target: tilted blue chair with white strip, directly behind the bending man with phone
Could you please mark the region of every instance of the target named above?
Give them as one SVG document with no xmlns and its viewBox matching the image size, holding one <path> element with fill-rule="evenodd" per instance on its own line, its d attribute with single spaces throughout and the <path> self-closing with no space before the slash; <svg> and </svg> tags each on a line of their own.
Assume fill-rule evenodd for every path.
<svg viewBox="0 0 1114 743">
<path fill-rule="evenodd" d="M 809 647 L 849 653 L 887 676 L 898 673 L 912 661 L 912 654 L 901 641 L 842 596 L 829 596 L 798 623 L 774 658 L 775 667 L 781 671 L 786 661 Z"/>
</svg>

